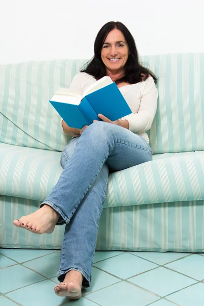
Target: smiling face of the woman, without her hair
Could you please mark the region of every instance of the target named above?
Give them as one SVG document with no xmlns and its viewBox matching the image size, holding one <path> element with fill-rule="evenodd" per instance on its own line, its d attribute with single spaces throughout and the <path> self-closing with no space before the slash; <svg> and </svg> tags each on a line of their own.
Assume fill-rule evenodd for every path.
<svg viewBox="0 0 204 306">
<path fill-rule="evenodd" d="M 112 30 L 101 49 L 101 59 L 106 69 L 113 73 L 122 72 L 128 57 L 129 47 L 122 32 L 117 29 Z"/>
</svg>

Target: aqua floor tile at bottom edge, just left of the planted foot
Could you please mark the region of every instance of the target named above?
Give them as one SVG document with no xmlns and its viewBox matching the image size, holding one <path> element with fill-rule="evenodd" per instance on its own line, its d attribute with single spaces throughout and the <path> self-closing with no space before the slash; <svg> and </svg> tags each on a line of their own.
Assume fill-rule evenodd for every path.
<svg viewBox="0 0 204 306">
<path fill-rule="evenodd" d="M 15 290 L 7 296 L 23 306 L 57 306 L 67 301 L 66 297 L 55 294 L 53 282 L 49 279 Z"/>
</svg>

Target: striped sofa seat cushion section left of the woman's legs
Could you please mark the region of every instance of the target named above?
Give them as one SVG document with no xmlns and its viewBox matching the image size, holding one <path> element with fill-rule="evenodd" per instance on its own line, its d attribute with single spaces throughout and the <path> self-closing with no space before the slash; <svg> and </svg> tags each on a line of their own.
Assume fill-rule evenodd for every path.
<svg viewBox="0 0 204 306">
<path fill-rule="evenodd" d="M 43 200 L 63 171 L 61 152 L 0 143 L 0 194 Z"/>
</svg>

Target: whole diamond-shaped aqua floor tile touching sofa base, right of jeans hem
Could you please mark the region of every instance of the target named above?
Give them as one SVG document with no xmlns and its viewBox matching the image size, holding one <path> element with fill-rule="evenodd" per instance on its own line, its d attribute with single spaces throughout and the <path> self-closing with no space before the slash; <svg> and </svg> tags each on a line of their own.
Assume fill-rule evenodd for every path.
<svg viewBox="0 0 204 306">
<path fill-rule="evenodd" d="M 124 253 L 114 258 L 101 261 L 94 264 L 94 266 L 123 279 L 158 267 L 158 265 L 152 264 L 130 253 Z"/>
</svg>

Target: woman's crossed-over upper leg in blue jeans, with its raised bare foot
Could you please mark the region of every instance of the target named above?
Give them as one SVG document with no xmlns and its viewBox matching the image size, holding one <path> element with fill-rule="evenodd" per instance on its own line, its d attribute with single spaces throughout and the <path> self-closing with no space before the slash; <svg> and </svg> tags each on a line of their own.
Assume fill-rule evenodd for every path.
<svg viewBox="0 0 204 306">
<path fill-rule="evenodd" d="M 19 226 L 33 228 L 36 234 L 50 233 L 56 223 L 69 223 L 105 162 L 111 171 L 117 171 L 150 160 L 151 149 L 142 137 L 115 124 L 92 123 L 78 139 L 73 156 L 42 208 L 29 215 L 30 220 L 28 216 L 20 218 Z M 46 227 L 48 210 L 55 211 L 59 220 L 52 219 Z"/>
</svg>

